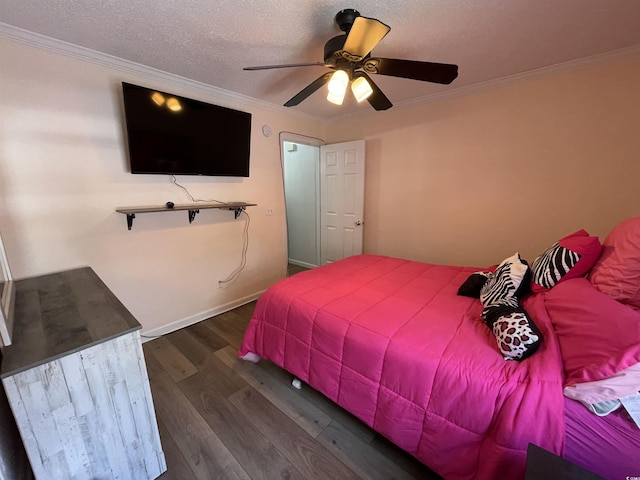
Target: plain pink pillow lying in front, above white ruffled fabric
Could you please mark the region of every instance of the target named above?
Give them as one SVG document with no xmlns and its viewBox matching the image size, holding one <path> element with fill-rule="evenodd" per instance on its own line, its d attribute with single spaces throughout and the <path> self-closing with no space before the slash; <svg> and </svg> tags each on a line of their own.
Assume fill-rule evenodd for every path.
<svg viewBox="0 0 640 480">
<path fill-rule="evenodd" d="M 559 283 L 544 303 L 560 344 L 565 385 L 602 380 L 640 362 L 640 312 L 586 278 Z"/>
</svg>

